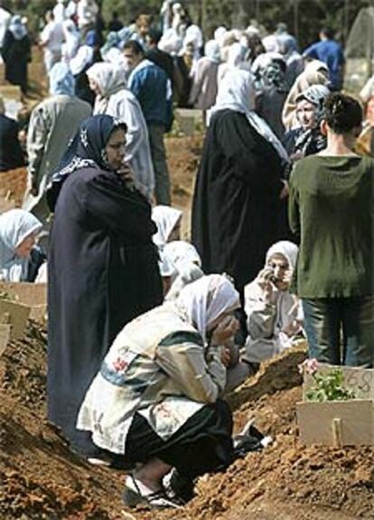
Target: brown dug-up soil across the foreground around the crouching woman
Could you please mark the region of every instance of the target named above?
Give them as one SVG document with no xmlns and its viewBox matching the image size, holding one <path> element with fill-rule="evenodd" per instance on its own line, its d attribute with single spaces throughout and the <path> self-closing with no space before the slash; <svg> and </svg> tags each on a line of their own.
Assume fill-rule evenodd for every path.
<svg viewBox="0 0 374 520">
<path fill-rule="evenodd" d="M 230 396 L 236 430 L 254 416 L 272 445 L 201 478 L 197 497 L 178 511 L 130 512 L 121 503 L 124 474 L 89 466 L 45 420 L 46 333 L 30 323 L 26 337 L 0 357 L 0 518 L 374 518 L 373 450 L 297 441 L 297 365 L 304 357 L 303 348 L 285 352 Z"/>
</svg>

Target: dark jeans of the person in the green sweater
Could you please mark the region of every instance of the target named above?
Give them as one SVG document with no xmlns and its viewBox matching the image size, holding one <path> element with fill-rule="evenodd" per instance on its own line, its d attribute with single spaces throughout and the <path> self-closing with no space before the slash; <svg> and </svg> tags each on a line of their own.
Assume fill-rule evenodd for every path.
<svg viewBox="0 0 374 520">
<path fill-rule="evenodd" d="M 373 367 L 374 297 L 304 299 L 309 357 L 323 363 Z"/>
</svg>

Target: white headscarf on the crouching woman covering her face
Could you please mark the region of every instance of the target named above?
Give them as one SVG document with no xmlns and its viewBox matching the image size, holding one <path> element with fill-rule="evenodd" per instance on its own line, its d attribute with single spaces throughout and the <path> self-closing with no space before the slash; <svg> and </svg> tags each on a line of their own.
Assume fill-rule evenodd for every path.
<svg viewBox="0 0 374 520">
<path fill-rule="evenodd" d="M 238 291 L 226 276 L 209 274 L 184 287 L 176 305 L 205 341 L 210 324 L 224 312 L 238 309 L 240 303 Z"/>
</svg>

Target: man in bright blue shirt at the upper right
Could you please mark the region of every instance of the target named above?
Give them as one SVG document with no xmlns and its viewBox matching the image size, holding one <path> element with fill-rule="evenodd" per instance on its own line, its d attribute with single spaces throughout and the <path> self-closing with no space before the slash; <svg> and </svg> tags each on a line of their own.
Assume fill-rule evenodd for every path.
<svg viewBox="0 0 374 520">
<path fill-rule="evenodd" d="M 320 32 L 320 42 L 313 43 L 305 49 L 305 58 L 321 60 L 326 63 L 330 72 L 331 90 L 340 90 L 343 79 L 344 54 L 341 44 L 335 42 L 332 30 L 325 27 Z"/>
</svg>

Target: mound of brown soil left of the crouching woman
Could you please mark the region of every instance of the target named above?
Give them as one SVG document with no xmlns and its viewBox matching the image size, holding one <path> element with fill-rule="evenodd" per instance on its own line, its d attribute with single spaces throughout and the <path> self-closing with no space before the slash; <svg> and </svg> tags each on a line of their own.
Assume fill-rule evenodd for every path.
<svg viewBox="0 0 374 520">
<path fill-rule="evenodd" d="M 32 322 L 0 357 L 0 518 L 113 519 L 123 476 L 68 450 L 45 419 L 46 331 Z"/>
</svg>

